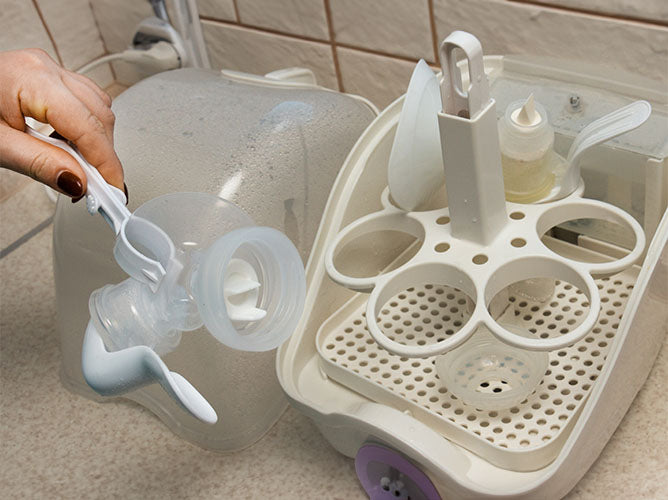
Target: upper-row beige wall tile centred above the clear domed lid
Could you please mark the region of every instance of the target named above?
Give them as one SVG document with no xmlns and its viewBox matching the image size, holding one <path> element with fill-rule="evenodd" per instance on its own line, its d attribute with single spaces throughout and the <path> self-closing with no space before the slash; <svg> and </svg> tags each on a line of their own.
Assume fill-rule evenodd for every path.
<svg viewBox="0 0 668 500">
<path fill-rule="evenodd" d="M 237 7 L 244 24 L 329 39 L 323 0 L 237 0 Z"/>
</svg>

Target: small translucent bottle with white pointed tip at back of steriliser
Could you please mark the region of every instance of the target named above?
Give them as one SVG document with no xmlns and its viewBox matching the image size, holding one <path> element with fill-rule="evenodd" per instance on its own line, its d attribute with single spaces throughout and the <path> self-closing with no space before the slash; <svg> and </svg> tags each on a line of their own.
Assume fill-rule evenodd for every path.
<svg viewBox="0 0 668 500">
<path fill-rule="evenodd" d="M 506 199 L 531 203 L 545 197 L 554 184 L 549 169 L 554 130 L 533 94 L 508 106 L 499 121 L 499 142 Z"/>
</svg>

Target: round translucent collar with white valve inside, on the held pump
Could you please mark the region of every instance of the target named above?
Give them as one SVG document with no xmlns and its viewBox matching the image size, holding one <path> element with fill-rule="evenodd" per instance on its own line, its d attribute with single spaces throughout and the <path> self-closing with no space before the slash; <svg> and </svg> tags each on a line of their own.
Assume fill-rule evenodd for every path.
<svg viewBox="0 0 668 500">
<path fill-rule="evenodd" d="M 242 351 L 268 351 L 297 327 L 306 279 L 297 249 L 280 231 L 242 227 L 218 239 L 193 277 L 204 325 Z"/>
</svg>

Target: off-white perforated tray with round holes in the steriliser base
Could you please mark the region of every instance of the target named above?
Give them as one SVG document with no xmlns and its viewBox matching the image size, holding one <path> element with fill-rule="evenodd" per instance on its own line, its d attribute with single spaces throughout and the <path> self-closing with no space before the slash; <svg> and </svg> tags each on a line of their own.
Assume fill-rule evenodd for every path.
<svg viewBox="0 0 668 500">
<path fill-rule="evenodd" d="M 444 437 L 489 462 L 517 471 L 536 470 L 558 455 L 578 410 L 605 366 L 637 270 L 597 280 L 604 301 L 597 324 L 582 341 L 550 353 L 543 380 L 529 398 L 502 411 L 483 411 L 443 387 L 435 358 L 392 355 L 366 329 L 366 294 L 357 294 L 322 325 L 317 347 L 323 370 L 364 396 L 410 412 Z M 536 335 L 568 331 L 587 308 L 586 297 L 557 283 L 550 302 L 509 297 L 509 306 Z M 380 319 L 397 341 L 422 345 L 451 335 L 466 322 L 466 295 L 424 285 L 391 299 Z"/>
</svg>

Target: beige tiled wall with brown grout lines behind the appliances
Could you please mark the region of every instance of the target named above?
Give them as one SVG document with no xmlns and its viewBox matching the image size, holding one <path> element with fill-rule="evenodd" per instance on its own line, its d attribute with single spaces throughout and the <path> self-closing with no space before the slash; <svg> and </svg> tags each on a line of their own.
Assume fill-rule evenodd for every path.
<svg viewBox="0 0 668 500">
<path fill-rule="evenodd" d="M 486 54 L 604 64 L 668 86 L 665 0 L 197 0 L 214 68 L 264 74 L 305 66 L 326 87 L 384 107 L 415 62 L 438 66 L 450 31 Z M 127 48 L 146 0 L 0 0 L 0 50 L 39 46 L 70 69 Z M 125 72 L 97 70 L 102 86 Z M 128 82 L 126 82 L 128 83 Z"/>
</svg>

